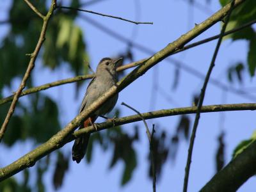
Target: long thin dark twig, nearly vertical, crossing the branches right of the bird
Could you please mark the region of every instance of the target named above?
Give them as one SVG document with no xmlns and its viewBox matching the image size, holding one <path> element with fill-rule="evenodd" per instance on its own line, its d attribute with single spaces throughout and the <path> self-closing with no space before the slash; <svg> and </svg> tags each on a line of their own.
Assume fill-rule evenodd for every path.
<svg viewBox="0 0 256 192">
<path fill-rule="evenodd" d="M 217 54 L 218 54 L 218 51 L 219 51 L 220 45 L 221 45 L 221 40 L 223 38 L 223 34 L 225 32 L 225 29 L 227 27 L 228 20 L 230 19 L 230 15 L 231 15 L 231 12 L 233 10 L 234 3 L 235 3 L 235 1 L 232 1 L 232 3 L 230 4 L 230 10 L 228 10 L 227 19 L 226 19 L 225 23 L 222 26 L 221 33 L 220 33 L 220 38 L 219 38 L 218 43 L 216 45 L 214 54 L 212 56 L 211 64 L 209 66 L 209 70 L 208 70 L 207 75 L 205 77 L 204 85 L 203 85 L 201 93 L 200 93 L 198 108 L 197 108 L 197 111 L 196 111 L 195 122 L 194 122 L 194 125 L 193 125 L 192 134 L 191 134 L 191 138 L 190 138 L 190 142 L 189 142 L 188 159 L 187 159 L 186 168 L 185 168 L 183 192 L 186 192 L 188 190 L 188 179 L 189 179 L 189 170 L 190 170 L 190 165 L 191 165 L 191 158 L 192 158 L 193 147 L 194 147 L 194 142 L 195 142 L 195 137 L 196 137 L 196 129 L 198 127 L 200 112 L 201 112 L 202 105 L 203 105 L 203 102 L 204 102 L 205 90 L 207 88 L 207 84 L 208 84 L 209 78 L 211 76 L 212 69 L 215 65 L 215 60 L 216 60 L 216 57 L 217 57 Z"/>
</svg>

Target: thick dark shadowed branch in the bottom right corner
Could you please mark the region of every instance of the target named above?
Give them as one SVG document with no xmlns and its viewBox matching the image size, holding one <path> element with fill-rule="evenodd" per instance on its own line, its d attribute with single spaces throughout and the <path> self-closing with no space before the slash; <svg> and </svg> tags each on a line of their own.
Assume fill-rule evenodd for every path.
<svg viewBox="0 0 256 192">
<path fill-rule="evenodd" d="M 230 163 L 205 184 L 200 191 L 233 192 L 256 173 L 256 141 L 232 159 Z"/>
</svg>

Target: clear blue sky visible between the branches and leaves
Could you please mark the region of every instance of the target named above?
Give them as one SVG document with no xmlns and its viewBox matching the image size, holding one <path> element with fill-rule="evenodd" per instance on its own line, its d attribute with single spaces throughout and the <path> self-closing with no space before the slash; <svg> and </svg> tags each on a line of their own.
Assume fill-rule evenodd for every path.
<svg viewBox="0 0 256 192">
<path fill-rule="evenodd" d="M 66 2 L 63 1 L 63 5 L 65 5 Z M 1 4 L 3 4 L 1 10 L 4 10 L 4 12 L 0 12 L 0 17 L 6 18 L 5 13 L 7 13 L 6 10 L 10 7 L 10 4 Z M 129 22 L 100 17 L 98 15 L 90 15 L 88 13 L 81 14 L 100 22 L 100 24 L 114 30 L 116 33 L 136 42 L 136 44 L 141 44 L 156 52 L 163 49 L 163 47 L 170 42 L 173 42 L 176 38 L 179 38 L 180 35 L 186 33 L 189 29 L 193 28 L 195 23 L 200 23 L 207 19 L 207 17 L 211 15 L 211 13 L 209 13 L 211 11 L 209 10 L 212 10 L 212 13 L 214 13 L 220 8 L 218 1 L 212 1 L 211 4 L 205 4 L 205 2 L 202 1 L 202 4 L 208 6 L 206 12 L 202 9 L 191 7 L 188 3 L 182 0 L 163 0 L 161 3 L 157 1 L 108 0 L 93 4 L 87 8 L 88 10 L 93 10 L 95 12 L 116 15 L 131 20 L 139 19 L 140 21 L 145 22 L 152 21 L 154 22 L 153 25 L 134 25 Z M 136 14 L 137 9 L 140 10 L 139 14 Z M 93 69 L 96 68 L 97 63 L 101 58 L 106 56 L 116 56 L 116 54 L 125 52 L 127 49 L 127 44 L 107 35 L 104 31 L 100 31 L 83 19 L 78 18 L 76 22 L 83 29 L 87 51 Z M 2 29 L 0 37 L 3 37 L 8 32 L 8 26 L 4 25 L 0 27 Z M 219 32 L 220 24 L 218 23 L 212 26 L 211 29 L 205 31 L 202 35 L 198 36 L 196 40 L 202 40 L 206 37 L 216 35 Z M 236 63 L 236 61 L 246 63 L 246 53 L 248 51 L 247 45 L 248 43 L 245 41 L 231 42 L 230 40 L 225 40 L 223 44 L 221 44 L 220 52 L 216 60 L 216 66 L 213 69 L 211 77 L 218 79 L 222 83 L 228 84 L 227 68 Z M 202 74 L 206 74 L 215 46 L 216 41 L 213 41 L 201 45 L 200 47 L 189 49 L 189 51 L 181 52 L 175 56 L 171 56 L 171 58 L 175 58 L 175 60 L 179 60 L 189 67 L 195 68 L 195 70 L 198 70 Z M 132 48 L 132 53 L 134 54 L 134 60 L 140 60 L 150 56 L 150 54 L 146 54 L 136 48 Z M 128 71 L 130 70 L 127 70 L 127 72 Z M 130 109 L 121 106 L 120 104 L 122 102 L 138 109 L 141 113 L 146 112 L 149 109 L 152 110 L 152 108 L 150 108 L 150 97 L 153 81 L 158 82 L 161 90 L 164 90 L 169 98 L 167 100 L 166 97 L 163 97 L 163 94 L 154 92 L 156 93 L 154 110 L 192 106 L 193 95 L 200 92 L 203 83 L 202 79 L 181 70 L 179 85 L 177 90 L 173 91 L 172 83 L 174 74 L 174 65 L 164 60 L 157 64 L 156 67 L 150 69 L 147 74 L 125 88 L 125 90 L 120 93 L 116 104 L 116 107 L 122 110 L 121 116 L 134 114 Z M 72 76 L 74 76 L 74 74 L 70 73 L 70 69 L 67 65 L 56 68 L 54 71 L 48 69 L 43 70 L 40 60 L 36 61 L 36 67 L 33 70 L 33 79 L 35 79 L 36 85 Z M 158 77 L 158 79 L 156 79 L 156 77 Z M 255 78 L 250 78 L 247 71 L 244 77 L 243 86 L 238 83 L 234 83 L 232 86 L 242 90 L 244 88 L 253 88 Z M 19 81 L 13 83 L 13 90 L 17 89 L 18 84 Z M 81 92 L 77 99 L 75 97 L 76 90 L 74 84 L 66 84 L 58 88 L 44 91 L 46 95 L 51 95 L 54 100 L 58 101 L 58 105 L 60 106 L 60 120 L 63 127 L 77 115 L 86 86 L 87 82 L 81 87 Z M 6 90 L 6 95 L 10 94 L 8 91 L 10 90 Z M 243 102 L 255 102 L 255 100 L 248 100 L 241 95 L 230 93 L 227 90 L 221 90 L 213 84 L 209 84 L 204 104 Z M 218 135 L 220 134 L 221 129 L 226 133 L 225 158 L 227 159 L 227 162 L 230 161 L 232 151 L 237 143 L 241 140 L 250 138 L 255 130 L 255 121 L 253 120 L 255 119 L 255 112 L 253 111 L 225 112 L 222 113 L 222 115 L 225 116 L 223 122 L 221 122 L 220 113 L 207 113 L 201 115 L 198 132 L 196 134 L 188 191 L 198 191 L 198 189 L 202 188 L 214 174 L 214 156 L 218 146 Z M 193 122 L 195 116 L 189 115 L 189 117 Z M 103 120 L 99 119 L 98 122 L 100 121 Z M 156 124 L 157 131 L 164 129 L 170 135 L 175 132 L 175 126 L 178 122 L 179 118 L 177 116 L 148 120 L 149 125 L 152 125 L 152 123 Z M 132 176 L 131 182 L 124 187 L 120 186 L 120 174 L 124 168 L 123 164 L 120 162 L 115 168 L 109 170 L 108 167 L 111 160 L 111 152 L 103 152 L 97 147 L 95 148 L 93 162 L 91 164 L 83 162 L 80 164 L 70 163 L 70 168 L 63 182 L 63 187 L 59 191 L 151 191 L 152 182 L 147 176 L 147 135 L 145 134 L 143 123 L 139 122 L 136 124 L 140 125 L 141 140 L 140 142 L 134 143 L 134 147 L 138 149 L 138 167 Z M 127 132 L 132 132 L 132 127 L 133 125 L 124 125 L 122 126 L 122 129 L 126 129 Z M 0 145 L 0 150 L 3 151 L 3 153 L 1 152 L 0 154 L 1 166 L 14 161 L 34 147 L 35 146 L 31 146 L 31 142 L 29 141 L 22 145 L 17 143 L 11 151 L 8 148 L 3 147 L 3 145 Z M 65 154 L 70 154 L 70 158 L 71 148 L 72 143 L 68 143 L 63 147 Z M 187 152 L 188 142 L 181 141 L 175 163 L 168 159 L 168 163 L 164 165 L 161 179 L 157 182 L 157 191 L 182 190 Z M 32 170 L 33 168 L 30 169 Z M 54 191 L 51 184 L 52 170 L 53 167 L 44 177 L 45 184 L 47 184 L 47 191 Z M 17 174 L 17 177 L 20 178 L 20 173 Z M 252 189 L 255 188 L 255 181 L 255 177 L 252 177 L 252 179 L 248 180 L 239 191 L 252 191 Z"/>
</svg>

